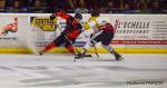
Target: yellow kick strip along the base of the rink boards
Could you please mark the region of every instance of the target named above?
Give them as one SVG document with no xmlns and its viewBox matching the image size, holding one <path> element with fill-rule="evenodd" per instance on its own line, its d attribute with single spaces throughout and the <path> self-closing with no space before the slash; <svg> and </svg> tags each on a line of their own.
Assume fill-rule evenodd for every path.
<svg viewBox="0 0 167 88">
<path fill-rule="evenodd" d="M 79 48 L 79 51 L 81 49 Z M 104 48 L 97 49 L 99 53 L 107 53 L 107 51 Z M 120 53 L 167 53 L 167 49 L 147 49 L 147 48 L 140 48 L 140 49 L 125 49 L 125 48 L 115 48 L 116 51 Z M 89 49 L 90 53 L 95 52 L 94 48 Z M 0 53 L 32 53 L 32 50 L 29 48 L 0 48 Z M 65 48 L 55 48 L 48 53 L 68 53 L 68 51 Z"/>
</svg>

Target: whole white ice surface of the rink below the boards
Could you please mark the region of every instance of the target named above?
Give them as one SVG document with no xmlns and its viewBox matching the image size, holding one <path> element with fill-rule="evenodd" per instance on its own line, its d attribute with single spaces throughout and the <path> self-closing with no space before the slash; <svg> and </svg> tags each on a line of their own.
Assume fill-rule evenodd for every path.
<svg viewBox="0 0 167 88">
<path fill-rule="evenodd" d="M 94 55 L 95 56 L 95 55 Z M 0 88 L 167 88 L 167 55 L 0 55 Z"/>
</svg>

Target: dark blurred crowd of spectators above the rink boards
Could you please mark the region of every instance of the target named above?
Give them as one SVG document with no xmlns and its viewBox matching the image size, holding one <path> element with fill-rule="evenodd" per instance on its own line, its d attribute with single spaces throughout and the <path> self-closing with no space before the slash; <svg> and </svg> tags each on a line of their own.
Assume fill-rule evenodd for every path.
<svg viewBox="0 0 167 88">
<path fill-rule="evenodd" d="M 0 12 L 167 13 L 167 0 L 0 0 Z"/>
</svg>

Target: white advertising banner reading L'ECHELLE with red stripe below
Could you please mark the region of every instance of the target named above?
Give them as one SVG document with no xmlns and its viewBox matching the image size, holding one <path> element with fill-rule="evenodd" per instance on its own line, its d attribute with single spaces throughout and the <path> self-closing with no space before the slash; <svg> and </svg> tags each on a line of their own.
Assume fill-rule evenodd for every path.
<svg viewBox="0 0 167 88">
<path fill-rule="evenodd" d="M 114 46 L 125 48 L 167 48 L 167 16 L 166 14 L 110 14 L 102 19 L 119 19 Z"/>
</svg>

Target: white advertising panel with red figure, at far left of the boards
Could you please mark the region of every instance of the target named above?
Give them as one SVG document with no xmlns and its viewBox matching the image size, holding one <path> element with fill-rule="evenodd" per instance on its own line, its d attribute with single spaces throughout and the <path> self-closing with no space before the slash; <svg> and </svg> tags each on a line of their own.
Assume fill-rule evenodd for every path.
<svg viewBox="0 0 167 88">
<path fill-rule="evenodd" d="M 0 48 L 27 47 L 27 16 L 0 14 Z"/>
</svg>

